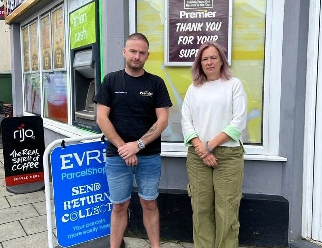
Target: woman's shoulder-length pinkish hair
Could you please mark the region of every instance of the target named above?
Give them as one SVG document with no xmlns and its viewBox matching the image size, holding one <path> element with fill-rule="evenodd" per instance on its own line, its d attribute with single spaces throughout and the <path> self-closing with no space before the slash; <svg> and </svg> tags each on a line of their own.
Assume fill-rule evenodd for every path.
<svg viewBox="0 0 322 248">
<path fill-rule="evenodd" d="M 193 80 L 194 85 L 201 85 L 204 82 L 206 82 L 206 74 L 204 73 L 202 66 L 201 66 L 201 56 L 202 56 L 202 53 L 204 52 L 204 50 L 206 48 L 211 47 L 211 46 L 215 47 L 218 50 L 219 55 L 220 55 L 220 59 L 222 61 L 222 65 L 220 68 L 221 78 L 223 78 L 225 80 L 228 80 L 231 78 L 231 73 L 228 68 L 227 57 L 225 55 L 225 52 L 223 51 L 222 46 L 214 41 L 206 41 L 200 46 L 197 56 L 195 58 L 195 61 L 193 62 L 193 65 L 191 67 L 191 76 L 192 76 L 192 80 Z"/>
</svg>

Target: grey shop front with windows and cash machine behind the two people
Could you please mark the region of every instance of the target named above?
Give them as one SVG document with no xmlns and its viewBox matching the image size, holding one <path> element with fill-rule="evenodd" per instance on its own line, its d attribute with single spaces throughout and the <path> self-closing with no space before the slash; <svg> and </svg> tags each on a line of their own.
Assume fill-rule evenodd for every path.
<svg viewBox="0 0 322 248">
<path fill-rule="evenodd" d="M 101 133 L 91 100 L 106 73 L 124 68 L 126 37 L 133 32 L 147 36 L 145 69 L 164 79 L 173 102 L 161 135 L 159 204 L 165 238 L 192 239 L 181 106 L 198 47 L 206 40 L 221 43 L 248 97 L 241 244 L 287 246 L 303 235 L 308 1 L 5 2 L 14 115 L 41 116 L 46 145 Z M 135 190 L 133 202 L 131 211 L 136 212 Z M 171 226 L 178 222 L 184 225 L 175 233 Z M 140 227 L 133 217 L 130 233 Z"/>
</svg>

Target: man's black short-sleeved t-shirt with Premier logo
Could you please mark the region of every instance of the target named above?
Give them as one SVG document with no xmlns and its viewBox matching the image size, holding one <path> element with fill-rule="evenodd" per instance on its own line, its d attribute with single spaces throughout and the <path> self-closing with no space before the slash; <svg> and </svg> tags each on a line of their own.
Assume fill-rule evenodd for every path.
<svg viewBox="0 0 322 248">
<path fill-rule="evenodd" d="M 95 103 L 110 107 L 109 119 L 124 142 L 141 138 L 157 121 L 156 108 L 172 106 L 161 77 L 144 72 L 132 77 L 125 70 L 108 73 L 97 94 Z M 140 155 L 161 152 L 161 137 L 140 150 Z M 118 155 L 117 148 L 108 142 L 107 156 Z"/>
</svg>

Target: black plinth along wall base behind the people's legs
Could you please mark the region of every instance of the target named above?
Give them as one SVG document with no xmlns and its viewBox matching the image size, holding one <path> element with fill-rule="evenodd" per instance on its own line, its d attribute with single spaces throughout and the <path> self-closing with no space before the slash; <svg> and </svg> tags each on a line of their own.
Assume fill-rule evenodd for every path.
<svg viewBox="0 0 322 248">
<path fill-rule="evenodd" d="M 193 242 L 192 210 L 185 190 L 160 190 L 160 239 Z M 137 192 L 130 201 L 125 236 L 147 238 Z M 239 244 L 242 246 L 287 247 L 288 201 L 282 196 L 243 194 L 239 208 Z"/>
</svg>

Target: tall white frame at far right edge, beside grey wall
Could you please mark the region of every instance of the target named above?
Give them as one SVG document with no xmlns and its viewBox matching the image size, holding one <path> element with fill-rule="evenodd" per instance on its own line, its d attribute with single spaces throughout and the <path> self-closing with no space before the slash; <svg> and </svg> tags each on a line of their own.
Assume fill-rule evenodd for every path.
<svg viewBox="0 0 322 248">
<path fill-rule="evenodd" d="M 311 1 L 303 165 L 302 236 L 322 242 L 321 1 Z M 317 73 L 318 72 L 318 73 Z M 320 243 L 321 244 L 321 243 Z"/>
</svg>

